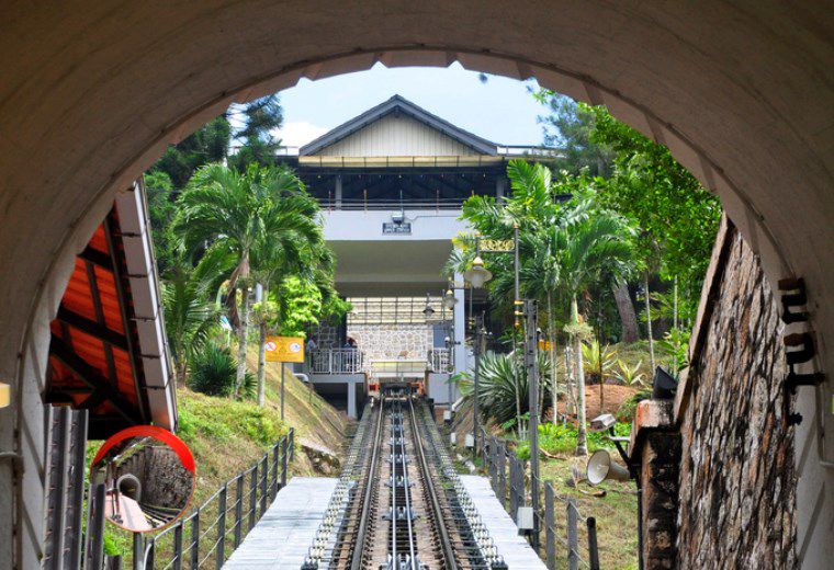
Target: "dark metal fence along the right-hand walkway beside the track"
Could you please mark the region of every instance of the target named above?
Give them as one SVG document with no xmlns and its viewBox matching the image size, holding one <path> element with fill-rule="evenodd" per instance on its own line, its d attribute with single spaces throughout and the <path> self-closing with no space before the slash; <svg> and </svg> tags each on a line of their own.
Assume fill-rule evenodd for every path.
<svg viewBox="0 0 834 570">
<path fill-rule="evenodd" d="M 548 568 L 599 570 L 596 518 L 584 516 L 576 499 L 559 495 L 550 481 L 533 480 L 526 461 L 506 442 L 487 435 L 483 428 L 478 438 L 482 465 L 496 497 L 514 521 L 518 520 L 519 509 L 533 504 L 533 493 L 538 493 L 539 506 L 533 509 L 532 531 L 527 536 Z"/>
</svg>

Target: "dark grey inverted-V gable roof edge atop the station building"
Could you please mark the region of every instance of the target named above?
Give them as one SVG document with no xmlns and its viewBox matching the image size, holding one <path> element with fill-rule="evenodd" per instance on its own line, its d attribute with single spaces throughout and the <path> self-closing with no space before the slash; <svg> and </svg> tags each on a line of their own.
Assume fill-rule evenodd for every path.
<svg viewBox="0 0 834 570">
<path fill-rule="evenodd" d="M 498 145 L 486 140 L 485 138 L 473 135 L 467 130 L 457 127 L 426 111 L 425 109 L 415 105 L 410 101 L 399 95 L 394 95 L 387 101 L 380 103 L 375 107 L 369 109 L 361 115 L 358 115 L 347 123 L 339 125 L 333 130 L 325 133 L 317 139 L 304 145 L 298 150 L 300 156 L 315 155 L 323 148 L 352 135 L 353 133 L 367 127 L 371 123 L 379 121 L 380 118 L 391 113 L 402 113 L 410 116 L 420 123 L 428 125 L 429 127 L 442 133 L 443 135 L 453 138 L 462 145 L 471 147 L 484 155 L 496 155 Z"/>
</svg>

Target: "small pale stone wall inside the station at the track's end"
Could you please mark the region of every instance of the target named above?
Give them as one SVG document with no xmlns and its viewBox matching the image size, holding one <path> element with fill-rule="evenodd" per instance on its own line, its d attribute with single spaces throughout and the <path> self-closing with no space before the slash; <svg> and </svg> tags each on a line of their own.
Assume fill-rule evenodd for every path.
<svg viewBox="0 0 834 570">
<path fill-rule="evenodd" d="M 426 358 L 432 344 L 428 324 L 356 324 L 348 326 L 348 337 L 356 339 L 365 362 L 392 360 L 405 353 L 405 358 Z"/>
</svg>

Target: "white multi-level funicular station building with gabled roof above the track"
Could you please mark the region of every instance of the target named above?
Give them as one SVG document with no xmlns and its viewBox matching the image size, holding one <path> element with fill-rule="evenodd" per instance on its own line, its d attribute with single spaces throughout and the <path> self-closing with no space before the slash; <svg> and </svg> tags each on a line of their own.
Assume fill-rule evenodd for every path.
<svg viewBox="0 0 834 570">
<path fill-rule="evenodd" d="M 447 380 L 469 367 L 469 292 L 455 289 L 447 310 L 441 271 L 466 231 L 461 205 L 473 195 L 500 200 L 508 160 L 553 151 L 497 145 L 395 95 L 282 155 L 322 204 L 337 288 L 353 306 L 342 322 L 313 331 L 313 385 L 350 415 L 386 377 L 425 380 L 439 407 L 457 400 Z"/>
</svg>

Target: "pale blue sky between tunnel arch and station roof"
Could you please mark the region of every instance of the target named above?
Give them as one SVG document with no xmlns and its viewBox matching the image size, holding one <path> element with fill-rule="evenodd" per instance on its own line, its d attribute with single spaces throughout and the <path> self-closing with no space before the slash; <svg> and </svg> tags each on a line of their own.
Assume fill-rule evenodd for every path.
<svg viewBox="0 0 834 570">
<path fill-rule="evenodd" d="M 500 145 L 540 145 L 537 116 L 544 112 L 528 88 L 517 81 L 478 73 L 460 64 L 449 68 L 387 69 L 376 64 L 367 71 L 311 81 L 281 91 L 284 124 L 275 134 L 284 146 L 302 146 L 399 94 L 450 123 Z"/>
</svg>

